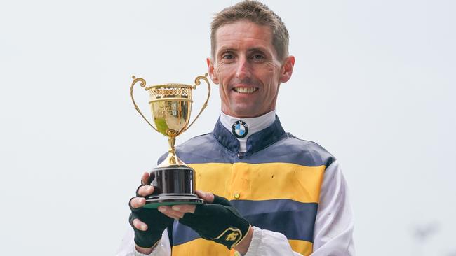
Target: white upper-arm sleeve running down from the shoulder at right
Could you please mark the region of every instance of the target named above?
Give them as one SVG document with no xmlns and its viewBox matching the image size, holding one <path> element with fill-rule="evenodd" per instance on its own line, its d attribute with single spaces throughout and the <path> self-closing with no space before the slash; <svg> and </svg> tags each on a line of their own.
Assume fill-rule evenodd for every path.
<svg viewBox="0 0 456 256">
<path fill-rule="evenodd" d="M 320 191 L 311 255 L 355 255 L 349 192 L 337 161 L 326 168 Z"/>
</svg>

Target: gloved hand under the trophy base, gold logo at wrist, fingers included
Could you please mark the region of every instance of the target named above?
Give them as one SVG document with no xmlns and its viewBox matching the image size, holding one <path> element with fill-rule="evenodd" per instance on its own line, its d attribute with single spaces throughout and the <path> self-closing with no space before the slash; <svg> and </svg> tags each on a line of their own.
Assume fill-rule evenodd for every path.
<svg viewBox="0 0 456 256">
<path fill-rule="evenodd" d="M 159 211 L 180 218 L 179 222 L 194 229 L 203 239 L 221 243 L 228 249 L 236 247 L 247 235 L 251 239 L 250 224 L 226 198 L 199 191 L 196 194 L 211 204 L 160 206 Z M 250 241 L 247 248 L 248 245 Z"/>
</svg>

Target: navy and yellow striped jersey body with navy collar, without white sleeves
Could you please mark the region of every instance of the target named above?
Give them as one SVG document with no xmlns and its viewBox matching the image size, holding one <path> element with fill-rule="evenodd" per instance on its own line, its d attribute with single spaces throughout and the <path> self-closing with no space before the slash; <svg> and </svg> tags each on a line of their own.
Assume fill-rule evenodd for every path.
<svg viewBox="0 0 456 256">
<path fill-rule="evenodd" d="M 311 254 L 323 173 L 335 161 L 320 145 L 286 133 L 276 117 L 248 138 L 243 153 L 219 120 L 212 133 L 177 146 L 177 155 L 195 169 L 196 190 L 226 197 L 251 225 L 280 232 L 294 251 Z M 169 233 L 173 255 L 234 254 L 176 221 Z"/>
</svg>

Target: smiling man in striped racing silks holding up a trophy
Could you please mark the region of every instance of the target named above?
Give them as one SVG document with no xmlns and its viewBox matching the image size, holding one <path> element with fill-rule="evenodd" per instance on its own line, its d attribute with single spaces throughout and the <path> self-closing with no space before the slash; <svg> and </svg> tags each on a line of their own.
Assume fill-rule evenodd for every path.
<svg viewBox="0 0 456 256">
<path fill-rule="evenodd" d="M 354 255 L 339 164 L 283 131 L 275 114 L 295 63 L 281 18 L 262 3 L 237 3 L 215 16 L 211 43 L 220 120 L 177 147 L 205 204 L 142 208 L 154 191 L 145 173 L 118 255 Z"/>
</svg>

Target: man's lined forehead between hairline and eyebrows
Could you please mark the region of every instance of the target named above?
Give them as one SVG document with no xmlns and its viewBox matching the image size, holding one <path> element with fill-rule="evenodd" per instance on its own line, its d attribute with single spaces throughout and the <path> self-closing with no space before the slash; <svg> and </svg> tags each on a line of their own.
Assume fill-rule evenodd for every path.
<svg viewBox="0 0 456 256">
<path fill-rule="evenodd" d="M 225 24 L 218 28 L 215 33 L 215 43 L 215 52 L 224 48 L 247 50 L 259 47 L 275 52 L 271 29 L 248 21 Z"/>
</svg>

